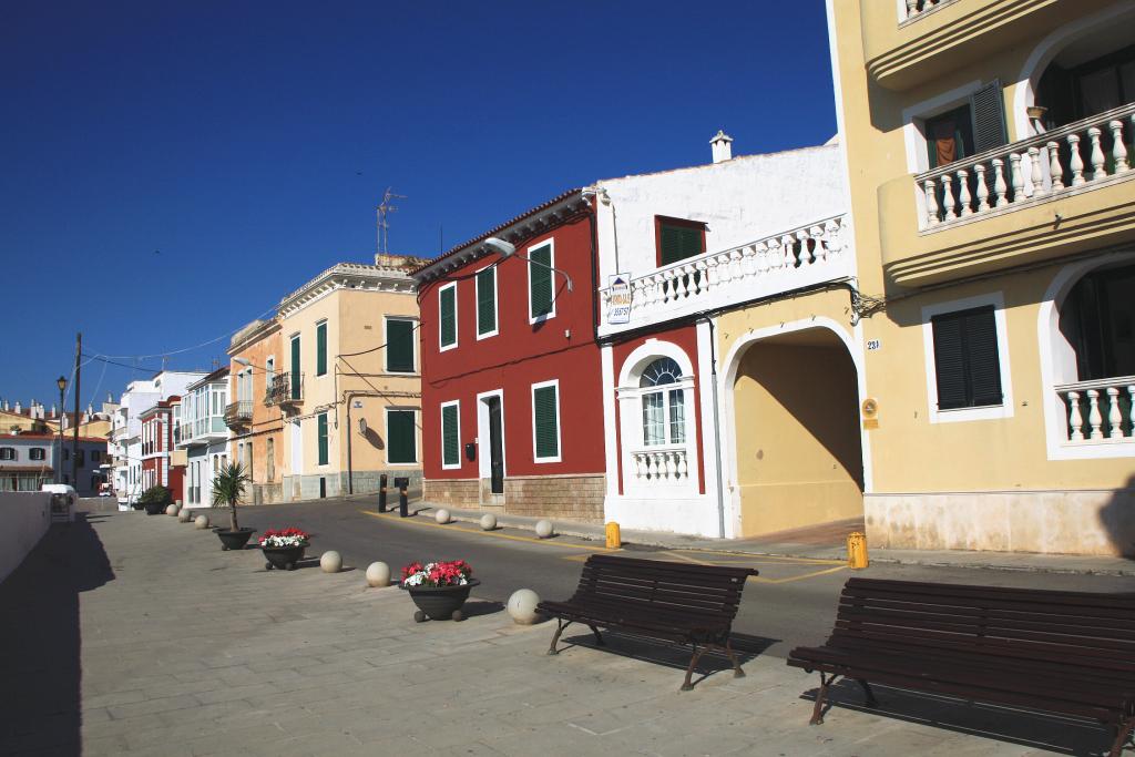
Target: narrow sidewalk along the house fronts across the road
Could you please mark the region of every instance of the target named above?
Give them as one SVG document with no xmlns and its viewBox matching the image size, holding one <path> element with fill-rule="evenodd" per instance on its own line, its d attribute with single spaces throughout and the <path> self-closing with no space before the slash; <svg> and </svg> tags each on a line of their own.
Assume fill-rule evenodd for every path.
<svg viewBox="0 0 1135 757">
<path fill-rule="evenodd" d="M 412 511 L 429 514 L 442 507 L 430 502 L 412 502 Z M 484 511 L 446 510 L 456 521 L 476 522 Z M 497 522 L 505 528 L 536 530 L 538 518 L 523 515 L 497 515 Z M 595 523 L 555 521 L 557 533 L 580 539 L 604 541 L 604 527 Z M 851 531 L 863 531 L 863 521 L 825 523 L 809 529 L 782 531 L 749 539 L 706 539 L 701 537 L 665 533 L 662 531 L 638 531 L 623 529 L 622 539 L 667 549 L 696 549 L 699 552 L 725 552 L 753 555 L 776 555 L 807 560 L 846 560 L 846 538 Z M 869 546 L 869 545 L 868 545 Z M 1135 577 L 1135 561 L 1126 557 L 1079 557 L 1076 555 L 1039 555 L 1006 552 L 967 552 L 962 549 L 880 549 L 871 548 L 871 560 L 880 563 L 906 565 L 938 565 L 944 567 L 975 567 L 990 570 L 1037 571 L 1045 573 L 1085 573 L 1099 575 Z"/>
</svg>

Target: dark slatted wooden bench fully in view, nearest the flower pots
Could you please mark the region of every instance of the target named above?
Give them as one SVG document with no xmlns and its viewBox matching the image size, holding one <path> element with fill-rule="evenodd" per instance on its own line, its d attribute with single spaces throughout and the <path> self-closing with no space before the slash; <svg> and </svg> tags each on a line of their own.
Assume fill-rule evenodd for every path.
<svg viewBox="0 0 1135 757">
<path fill-rule="evenodd" d="M 541 602 L 537 607 L 558 623 L 548 654 L 556 654 L 565 628 L 582 623 L 599 646 L 604 644 L 600 628 L 689 644 L 693 650 L 682 691 L 693 688 L 690 676 L 706 649 L 725 653 L 734 678 L 741 678 L 745 673 L 729 634 L 745 580 L 756 574 L 748 567 L 591 555 L 571 599 Z"/>
</svg>

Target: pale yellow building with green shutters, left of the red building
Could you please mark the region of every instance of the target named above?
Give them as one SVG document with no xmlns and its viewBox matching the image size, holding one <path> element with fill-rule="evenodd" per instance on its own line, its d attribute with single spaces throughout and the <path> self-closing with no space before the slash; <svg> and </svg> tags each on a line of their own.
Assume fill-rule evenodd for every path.
<svg viewBox="0 0 1135 757">
<path fill-rule="evenodd" d="M 280 302 L 268 390 L 284 412 L 285 501 L 421 481 L 421 375 L 413 260 L 338 263 Z"/>
</svg>

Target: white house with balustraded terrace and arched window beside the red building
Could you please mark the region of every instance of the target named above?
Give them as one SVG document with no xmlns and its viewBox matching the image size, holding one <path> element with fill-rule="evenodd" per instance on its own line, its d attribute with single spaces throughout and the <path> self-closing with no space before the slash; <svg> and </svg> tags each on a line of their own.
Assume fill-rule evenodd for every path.
<svg viewBox="0 0 1135 757">
<path fill-rule="evenodd" d="M 606 179 L 596 208 L 605 519 L 738 536 L 722 476 L 720 316 L 855 272 L 838 144 Z"/>
</svg>

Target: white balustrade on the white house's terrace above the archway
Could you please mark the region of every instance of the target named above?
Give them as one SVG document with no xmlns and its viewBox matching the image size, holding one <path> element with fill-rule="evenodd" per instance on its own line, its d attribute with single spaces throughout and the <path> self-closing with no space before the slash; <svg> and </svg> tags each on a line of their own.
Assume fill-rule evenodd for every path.
<svg viewBox="0 0 1135 757">
<path fill-rule="evenodd" d="M 855 264 L 850 246 L 847 216 L 834 216 L 656 268 L 630 281 L 630 322 L 605 322 L 605 330 L 632 328 L 850 276 Z M 609 305 L 609 287 L 600 296 Z"/>
</svg>

